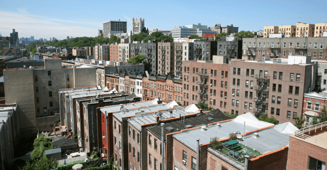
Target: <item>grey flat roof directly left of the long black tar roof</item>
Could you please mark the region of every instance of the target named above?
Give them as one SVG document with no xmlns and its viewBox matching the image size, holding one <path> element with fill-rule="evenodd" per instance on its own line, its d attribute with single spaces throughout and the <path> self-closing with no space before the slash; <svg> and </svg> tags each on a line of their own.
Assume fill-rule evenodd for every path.
<svg viewBox="0 0 327 170">
<path fill-rule="evenodd" d="M 168 104 L 167 104 L 168 105 Z M 157 108 L 157 107 L 155 107 Z M 170 107 L 171 108 L 171 107 Z M 160 107 L 158 107 L 158 109 L 160 109 Z M 170 119 L 170 118 L 179 118 L 180 116 L 183 115 L 189 115 L 192 113 L 197 113 L 197 111 L 193 112 L 185 112 L 185 108 L 183 109 L 177 109 L 177 110 L 172 110 L 172 116 L 170 116 L 170 112 L 162 112 L 162 120 L 164 119 Z M 141 118 L 135 118 L 134 119 L 129 119 L 128 122 L 131 123 L 135 128 L 137 128 L 138 130 L 141 130 L 141 125 L 142 124 L 147 124 L 147 123 L 154 123 L 156 122 L 156 113 L 153 114 L 149 114 L 149 115 L 143 115 L 143 117 Z"/>
</svg>

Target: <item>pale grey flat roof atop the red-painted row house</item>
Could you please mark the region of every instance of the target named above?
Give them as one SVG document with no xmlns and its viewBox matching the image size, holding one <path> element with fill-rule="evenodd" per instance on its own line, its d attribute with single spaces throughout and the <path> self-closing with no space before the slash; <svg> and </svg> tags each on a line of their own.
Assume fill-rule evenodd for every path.
<svg viewBox="0 0 327 170">
<path fill-rule="evenodd" d="M 126 109 L 128 111 L 129 109 L 144 107 L 144 106 L 148 106 L 148 105 L 157 105 L 158 104 L 157 101 L 158 101 L 158 98 L 156 98 L 152 101 L 129 103 L 129 104 L 124 105 L 124 107 L 126 107 Z M 108 113 L 119 112 L 119 111 L 121 111 L 121 106 L 120 105 L 107 106 L 107 107 L 102 107 L 100 110 L 103 114 L 105 112 L 108 112 Z"/>
</svg>

